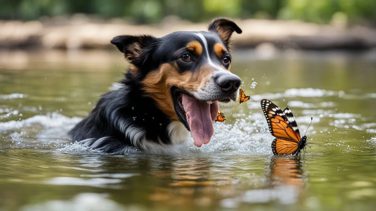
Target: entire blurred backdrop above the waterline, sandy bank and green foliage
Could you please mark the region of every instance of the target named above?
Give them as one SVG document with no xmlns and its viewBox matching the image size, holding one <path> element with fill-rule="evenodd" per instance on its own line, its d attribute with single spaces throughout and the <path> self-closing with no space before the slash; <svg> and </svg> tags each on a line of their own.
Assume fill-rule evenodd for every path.
<svg viewBox="0 0 376 211">
<path fill-rule="evenodd" d="M 374 0 L 2 0 L 0 48 L 107 48 L 113 36 L 206 30 L 215 17 L 243 29 L 235 47 L 370 49 Z"/>
</svg>

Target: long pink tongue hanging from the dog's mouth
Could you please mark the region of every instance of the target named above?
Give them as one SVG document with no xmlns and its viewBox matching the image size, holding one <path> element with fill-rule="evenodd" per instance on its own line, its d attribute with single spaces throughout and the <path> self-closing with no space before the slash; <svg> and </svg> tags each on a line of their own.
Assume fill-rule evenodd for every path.
<svg viewBox="0 0 376 211">
<path fill-rule="evenodd" d="M 213 122 L 218 116 L 218 101 L 209 105 L 188 95 L 182 95 L 187 122 L 191 130 L 194 145 L 200 147 L 209 143 L 214 133 Z"/>
</svg>

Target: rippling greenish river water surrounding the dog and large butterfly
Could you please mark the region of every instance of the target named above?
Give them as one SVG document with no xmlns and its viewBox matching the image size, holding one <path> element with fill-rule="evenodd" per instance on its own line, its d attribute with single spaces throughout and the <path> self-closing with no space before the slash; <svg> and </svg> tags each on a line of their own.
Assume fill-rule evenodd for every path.
<svg viewBox="0 0 376 211">
<path fill-rule="evenodd" d="M 208 145 L 183 155 L 109 155 L 66 136 L 116 87 L 120 54 L 3 52 L 0 210 L 373 210 L 376 57 L 370 53 L 235 51 L 252 98 L 221 106 Z M 4 59 L 6 58 L 6 59 Z M 257 84 L 257 86 L 256 86 Z M 260 100 L 289 106 L 308 141 L 304 160 L 274 157 Z"/>
</svg>

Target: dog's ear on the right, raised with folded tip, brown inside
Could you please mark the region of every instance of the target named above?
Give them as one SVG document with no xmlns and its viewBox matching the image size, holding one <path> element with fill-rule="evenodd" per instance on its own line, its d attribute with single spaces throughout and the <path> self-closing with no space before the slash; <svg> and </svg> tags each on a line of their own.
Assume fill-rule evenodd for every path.
<svg viewBox="0 0 376 211">
<path fill-rule="evenodd" d="M 209 24 L 209 32 L 217 33 L 226 47 L 228 47 L 229 39 L 234 31 L 238 34 L 242 32 L 236 23 L 226 18 L 215 19 Z"/>
</svg>

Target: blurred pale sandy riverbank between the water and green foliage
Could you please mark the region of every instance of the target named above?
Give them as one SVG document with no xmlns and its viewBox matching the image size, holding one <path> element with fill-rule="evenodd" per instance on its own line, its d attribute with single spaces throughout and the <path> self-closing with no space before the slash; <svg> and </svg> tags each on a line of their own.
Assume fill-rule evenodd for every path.
<svg viewBox="0 0 376 211">
<path fill-rule="evenodd" d="M 299 21 L 235 20 L 243 30 L 232 36 L 236 48 L 254 48 L 271 43 L 276 48 L 303 50 L 370 49 L 376 47 L 376 29 L 363 26 L 318 25 Z M 95 21 L 85 16 L 44 21 L 0 21 L 3 49 L 97 49 L 111 48 L 110 40 L 122 34 L 157 37 L 174 31 L 206 31 L 208 23 L 182 20 L 159 25 L 132 25 L 120 19 Z"/>
</svg>

